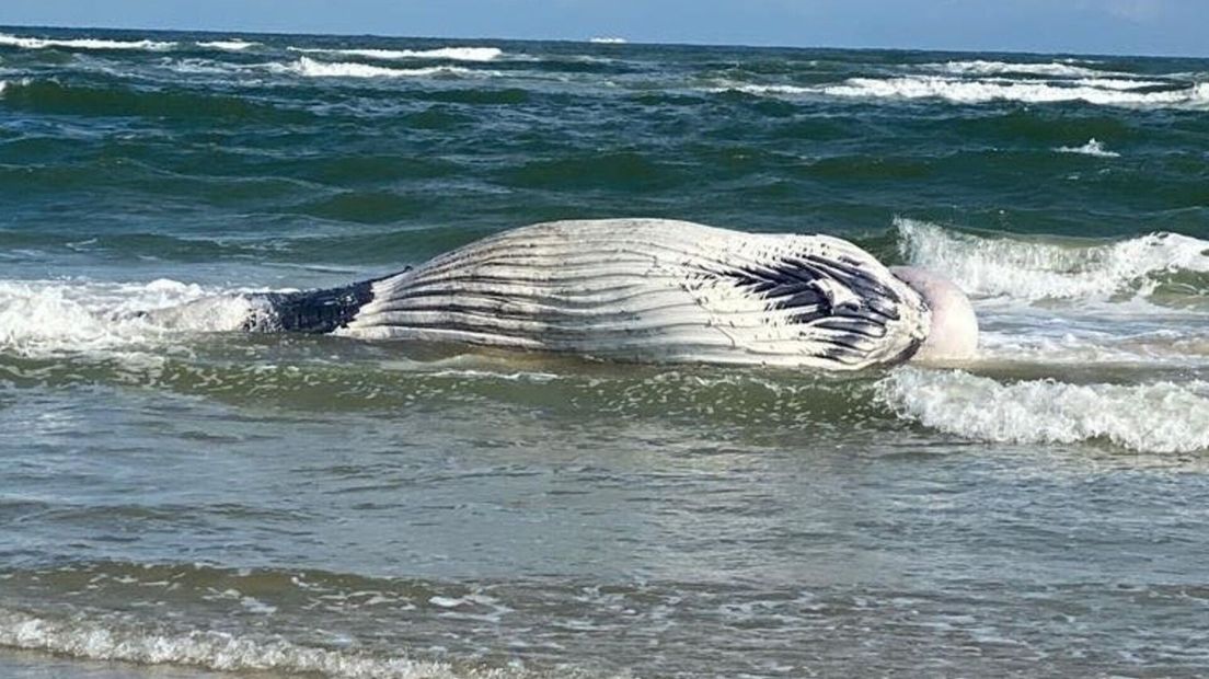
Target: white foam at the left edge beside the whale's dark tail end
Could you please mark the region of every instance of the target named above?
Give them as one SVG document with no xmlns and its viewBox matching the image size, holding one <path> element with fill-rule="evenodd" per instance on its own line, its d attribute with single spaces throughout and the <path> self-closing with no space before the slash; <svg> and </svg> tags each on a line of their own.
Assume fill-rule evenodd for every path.
<svg viewBox="0 0 1209 679">
<path fill-rule="evenodd" d="M 2 280 L 0 353 L 39 358 L 108 352 L 162 342 L 175 332 L 235 330 L 253 311 L 251 302 L 231 291 L 167 279 Z"/>
</svg>

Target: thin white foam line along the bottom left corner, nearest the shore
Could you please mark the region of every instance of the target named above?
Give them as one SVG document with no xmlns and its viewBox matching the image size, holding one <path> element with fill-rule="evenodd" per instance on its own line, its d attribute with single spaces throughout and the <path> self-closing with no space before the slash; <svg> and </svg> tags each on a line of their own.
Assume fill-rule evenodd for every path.
<svg viewBox="0 0 1209 679">
<path fill-rule="evenodd" d="M 440 662 L 380 657 L 303 646 L 280 638 L 254 639 L 222 632 L 173 633 L 79 619 L 51 620 L 0 609 L 0 646 L 76 658 L 185 665 L 218 672 L 272 672 L 341 678 L 504 678 L 523 671 L 455 671 Z"/>
</svg>

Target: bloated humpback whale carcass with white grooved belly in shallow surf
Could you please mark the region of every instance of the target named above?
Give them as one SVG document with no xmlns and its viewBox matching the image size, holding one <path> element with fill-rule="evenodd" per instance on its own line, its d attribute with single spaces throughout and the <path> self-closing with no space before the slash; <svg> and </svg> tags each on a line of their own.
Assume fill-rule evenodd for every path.
<svg viewBox="0 0 1209 679">
<path fill-rule="evenodd" d="M 858 370 L 961 360 L 968 300 L 829 236 L 654 219 L 554 221 L 342 288 L 249 294 L 242 329 L 601 359 Z"/>
</svg>

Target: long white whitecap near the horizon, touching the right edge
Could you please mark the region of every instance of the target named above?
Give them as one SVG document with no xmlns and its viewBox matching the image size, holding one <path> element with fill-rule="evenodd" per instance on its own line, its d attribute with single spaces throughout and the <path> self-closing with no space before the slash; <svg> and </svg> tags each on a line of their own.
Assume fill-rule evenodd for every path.
<svg viewBox="0 0 1209 679">
<path fill-rule="evenodd" d="M 1179 89 L 1133 92 L 1091 86 L 1062 86 L 1040 81 L 995 82 L 937 76 L 854 77 L 820 88 L 831 97 L 874 99 L 944 99 L 958 104 L 1023 101 L 1030 104 L 1087 101 L 1106 106 L 1209 108 L 1209 83 Z"/>
</svg>

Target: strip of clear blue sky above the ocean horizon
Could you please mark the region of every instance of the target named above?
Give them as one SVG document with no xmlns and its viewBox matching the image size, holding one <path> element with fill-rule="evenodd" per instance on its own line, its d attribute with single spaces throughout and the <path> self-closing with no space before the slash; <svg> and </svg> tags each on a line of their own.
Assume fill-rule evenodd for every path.
<svg viewBox="0 0 1209 679">
<path fill-rule="evenodd" d="M 0 0 L 0 25 L 1209 57 L 1209 0 Z"/>
</svg>

